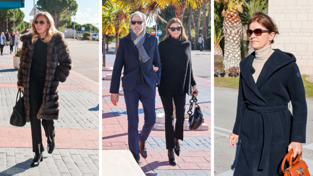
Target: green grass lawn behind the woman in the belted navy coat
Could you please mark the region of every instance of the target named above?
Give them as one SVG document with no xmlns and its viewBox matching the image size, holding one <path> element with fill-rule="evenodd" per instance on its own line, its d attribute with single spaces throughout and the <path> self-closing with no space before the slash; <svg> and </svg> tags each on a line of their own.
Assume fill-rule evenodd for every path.
<svg viewBox="0 0 313 176">
<path fill-rule="evenodd" d="M 308 75 L 301 75 L 301 77 L 304 84 L 305 97 L 307 98 L 313 97 L 313 83 L 305 80 L 305 78 L 308 77 Z M 214 86 L 238 89 L 239 78 L 214 77 Z"/>
</svg>

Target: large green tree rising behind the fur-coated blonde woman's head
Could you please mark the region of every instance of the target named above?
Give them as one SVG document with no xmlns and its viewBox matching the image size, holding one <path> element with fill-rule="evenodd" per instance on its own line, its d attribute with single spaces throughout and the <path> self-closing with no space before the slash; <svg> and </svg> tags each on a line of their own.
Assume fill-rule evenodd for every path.
<svg viewBox="0 0 313 176">
<path fill-rule="evenodd" d="M 59 28 L 61 20 L 68 22 L 69 17 L 76 15 L 78 4 L 75 0 L 38 0 L 36 8 L 49 12 L 54 18 L 55 27 Z"/>
</svg>

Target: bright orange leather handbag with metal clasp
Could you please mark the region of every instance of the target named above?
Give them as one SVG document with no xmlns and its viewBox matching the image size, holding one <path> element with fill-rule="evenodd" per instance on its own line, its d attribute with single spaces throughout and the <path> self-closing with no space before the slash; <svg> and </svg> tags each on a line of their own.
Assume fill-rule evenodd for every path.
<svg viewBox="0 0 313 176">
<path fill-rule="evenodd" d="M 285 158 L 283 159 L 283 162 L 281 164 L 281 170 L 284 173 L 284 176 L 310 176 L 308 165 L 306 165 L 305 161 L 302 160 L 302 152 L 298 154 L 296 158 L 292 157 L 293 150 L 290 149 L 290 151 L 287 153 Z M 285 162 L 289 163 L 289 168 L 286 168 L 284 170 Z M 294 162 L 292 160 L 295 159 Z"/>
</svg>

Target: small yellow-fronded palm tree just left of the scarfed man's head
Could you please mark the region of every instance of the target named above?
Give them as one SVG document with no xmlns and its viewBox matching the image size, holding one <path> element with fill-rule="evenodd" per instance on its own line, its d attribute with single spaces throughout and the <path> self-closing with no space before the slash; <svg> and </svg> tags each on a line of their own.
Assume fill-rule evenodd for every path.
<svg viewBox="0 0 313 176">
<path fill-rule="evenodd" d="M 115 30 L 115 54 L 117 52 L 117 48 L 119 45 L 119 34 L 121 36 L 126 36 L 129 33 L 129 17 L 130 17 L 130 10 L 129 8 L 124 8 L 118 3 L 113 3 L 111 0 L 108 0 L 102 6 L 102 11 L 106 14 L 102 18 L 106 18 L 110 23 L 114 26 Z"/>
</svg>

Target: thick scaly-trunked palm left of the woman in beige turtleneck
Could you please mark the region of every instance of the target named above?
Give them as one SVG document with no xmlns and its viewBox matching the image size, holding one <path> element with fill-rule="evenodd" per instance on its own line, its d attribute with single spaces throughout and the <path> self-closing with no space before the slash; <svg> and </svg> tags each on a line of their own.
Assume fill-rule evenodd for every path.
<svg viewBox="0 0 313 176">
<path fill-rule="evenodd" d="M 239 67 L 241 60 L 240 38 L 242 34 L 242 24 L 240 13 L 243 13 L 245 0 L 214 0 L 217 3 L 223 3 L 222 11 L 223 33 L 225 38 L 224 61 L 225 71 L 231 67 Z M 226 10 L 225 10 L 226 9 Z"/>
</svg>

